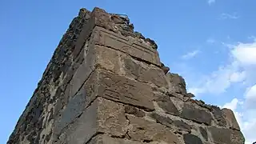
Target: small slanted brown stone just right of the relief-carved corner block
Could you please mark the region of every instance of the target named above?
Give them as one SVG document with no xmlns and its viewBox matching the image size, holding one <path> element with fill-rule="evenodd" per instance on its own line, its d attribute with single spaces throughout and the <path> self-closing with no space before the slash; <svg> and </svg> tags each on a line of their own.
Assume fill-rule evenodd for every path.
<svg viewBox="0 0 256 144">
<path fill-rule="evenodd" d="M 174 103 L 170 100 L 169 96 L 155 94 L 154 97 L 155 101 L 158 103 L 158 106 L 160 106 L 162 110 L 165 110 L 166 113 L 179 115 L 176 106 L 174 106 Z"/>
</svg>

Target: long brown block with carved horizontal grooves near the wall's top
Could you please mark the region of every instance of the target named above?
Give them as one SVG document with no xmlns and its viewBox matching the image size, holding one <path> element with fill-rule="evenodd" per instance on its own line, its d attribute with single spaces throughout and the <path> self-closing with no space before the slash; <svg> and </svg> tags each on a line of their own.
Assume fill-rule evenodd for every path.
<svg viewBox="0 0 256 144">
<path fill-rule="evenodd" d="M 127 38 L 98 26 L 94 27 L 93 34 L 95 44 L 109 46 L 135 58 L 161 66 L 158 51 L 134 38 Z"/>
</svg>

